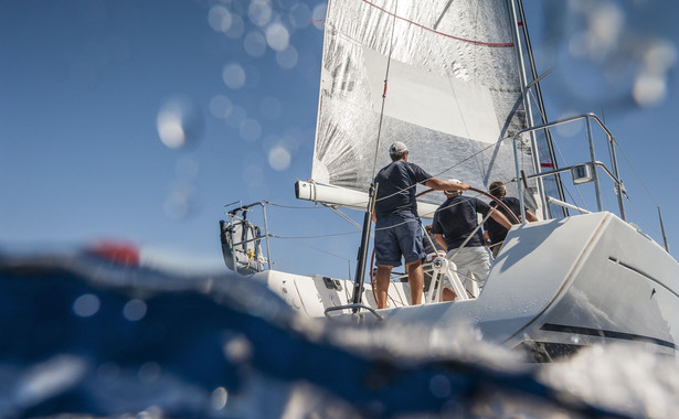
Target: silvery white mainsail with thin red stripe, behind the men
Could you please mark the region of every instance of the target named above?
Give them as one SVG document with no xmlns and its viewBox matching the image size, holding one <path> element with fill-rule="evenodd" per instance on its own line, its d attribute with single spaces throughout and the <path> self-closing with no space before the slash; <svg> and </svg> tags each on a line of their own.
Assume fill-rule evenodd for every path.
<svg viewBox="0 0 679 419">
<path fill-rule="evenodd" d="M 367 192 L 395 140 L 437 178 L 516 178 L 527 118 L 506 0 L 329 1 L 325 24 L 315 182 Z"/>
</svg>

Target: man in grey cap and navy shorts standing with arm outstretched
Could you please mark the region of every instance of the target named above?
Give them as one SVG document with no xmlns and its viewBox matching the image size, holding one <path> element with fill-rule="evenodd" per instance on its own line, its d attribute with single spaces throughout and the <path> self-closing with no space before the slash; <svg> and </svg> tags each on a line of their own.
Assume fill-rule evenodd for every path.
<svg viewBox="0 0 679 419">
<path fill-rule="evenodd" d="M 411 304 L 422 303 L 424 273 L 422 258 L 422 224 L 417 215 L 415 185 L 424 184 L 437 191 L 466 191 L 466 183 L 452 183 L 433 178 L 417 164 L 407 161 L 407 147 L 396 141 L 389 148 L 392 162 L 374 179 L 378 186 L 373 221 L 375 222 L 375 261 L 378 264 L 378 309 L 386 308 L 391 270 L 405 260 L 411 288 Z"/>
</svg>

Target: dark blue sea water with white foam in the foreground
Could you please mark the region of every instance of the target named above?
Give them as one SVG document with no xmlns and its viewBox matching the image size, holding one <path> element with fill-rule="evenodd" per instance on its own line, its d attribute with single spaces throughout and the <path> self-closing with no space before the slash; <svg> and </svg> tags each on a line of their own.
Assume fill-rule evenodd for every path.
<svg viewBox="0 0 679 419">
<path fill-rule="evenodd" d="M 530 364 L 478 332 L 299 315 L 252 279 L 0 253 L 0 417 L 672 418 L 679 362 Z"/>
</svg>

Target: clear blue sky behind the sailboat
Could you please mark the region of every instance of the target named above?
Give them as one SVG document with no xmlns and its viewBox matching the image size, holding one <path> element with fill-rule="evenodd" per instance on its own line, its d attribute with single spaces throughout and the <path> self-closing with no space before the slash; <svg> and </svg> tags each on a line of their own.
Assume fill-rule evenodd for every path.
<svg viewBox="0 0 679 419">
<path fill-rule="evenodd" d="M 676 255 L 679 8 L 562 3 L 539 2 L 528 17 L 539 71 L 553 69 L 542 85 L 548 114 L 603 111 L 634 164 L 620 163 L 630 221 L 661 243 L 660 205 Z M 576 7 L 587 3 L 603 9 Z M 323 17 L 325 2 L 295 0 L 0 2 L 0 246 L 119 239 L 151 260 L 221 269 L 224 204 L 312 206 L 295 200 L 293 185 L 311 172 Z M 592 41 L 592 28 L 619 42 Z M 658 39 L 665 49 L 648 60 L 667 61 L 651 79 L 662 89 L 635 98 L 639 51 Z M 646 46 L 620 47 L 633 44 Z M 162 117 L 177 109 L 183 146 Z M 279 236 L 357 232 L 325 208 L 267 211 Z M 346 277 L 359 241 L 358 233 L 278 239 L 273 256 L 284 270 Z"/>
</svg>

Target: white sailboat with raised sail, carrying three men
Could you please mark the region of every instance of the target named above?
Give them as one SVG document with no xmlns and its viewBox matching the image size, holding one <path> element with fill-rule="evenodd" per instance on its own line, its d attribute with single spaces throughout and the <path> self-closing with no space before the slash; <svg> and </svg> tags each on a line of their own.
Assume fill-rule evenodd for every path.
<svg viewBox="0 0 679 419">
<path fill-rule="evenodd" d="M 594 114 L 547 120 L 524 21 L 517 0 L 330 0 L 312 171 L 295 193 L 365 212 L 356 280 L 272 269 L 267 202 L 232 206 L 220 222 L 227 267 L 314 318 L 444 336 L 466 323 L 538 362 L 612 342 L 676 355 L 679 264 L 626 221 L 617 143 L 605 123 Z M 558 138 L 554 127 L 563 125 L 583 135 Z M 433 279 L 424 304 L 411 305 L 407 282 L 394 277 L 388 308 L 376 310 L 364 282 L 372 271 L 371 184 L 395 140 L 436 178 L 461 179 L 479 193 L 503 181 L 521 214 L 539 216 L 511 228 L 480 292 L 457 275 L 454 259 L 434 254 L 424 264 Z M 564 141 L 580 144 L 569 161 L 556 159 Z M 571 200 L 567 187 L 594 208 Z M 426 192 L 417 191 L 425 219 L 443 201 Z M 264 225 L 247 219 L 255 210 Z M 457 300 L 441 301 L 443 277 Z"/>
</svg>

